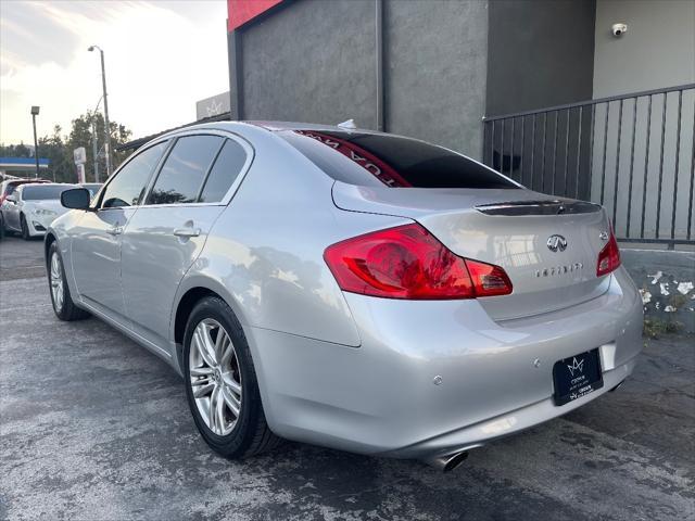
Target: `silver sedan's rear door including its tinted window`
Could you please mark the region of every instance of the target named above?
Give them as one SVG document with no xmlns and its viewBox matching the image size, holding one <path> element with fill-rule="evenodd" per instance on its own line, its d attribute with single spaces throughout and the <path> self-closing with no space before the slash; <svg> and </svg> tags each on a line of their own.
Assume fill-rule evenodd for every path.
<svg viewBox="0 0 695 521">
<path fill-rule="evenodd" d="M 123 291 L 135 331 L 168 345 L 178 284 L 231 198 L 251 149 L 226 135 L 179 137 L 123 236 Z"/>
</svg>

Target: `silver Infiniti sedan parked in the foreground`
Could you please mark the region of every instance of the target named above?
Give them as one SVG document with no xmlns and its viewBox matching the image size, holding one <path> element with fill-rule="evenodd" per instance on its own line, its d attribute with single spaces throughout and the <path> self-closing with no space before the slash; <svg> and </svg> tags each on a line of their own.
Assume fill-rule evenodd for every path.
<svg viewBox="0 0 695 521">
<path fill-rule="evenodd" d="M 167 360 L 230 458 L 283 437 L 451 469 L 616 389 L 641 350 L 601 206 L 424 141 L 205 124 L 62 202 L 55 314 Z"/>
</svg>

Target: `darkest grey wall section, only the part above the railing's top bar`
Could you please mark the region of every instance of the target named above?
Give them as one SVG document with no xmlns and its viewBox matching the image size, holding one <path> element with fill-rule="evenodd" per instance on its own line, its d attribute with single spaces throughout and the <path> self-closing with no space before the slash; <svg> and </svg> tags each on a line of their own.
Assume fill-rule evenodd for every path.
<svg viewBox="0 0 695 521">
<path fill-rule="evenodd" d="M 590 100 L 595 10 L 595 0 L 491 0 L 486 115 Z"/>
</svg>

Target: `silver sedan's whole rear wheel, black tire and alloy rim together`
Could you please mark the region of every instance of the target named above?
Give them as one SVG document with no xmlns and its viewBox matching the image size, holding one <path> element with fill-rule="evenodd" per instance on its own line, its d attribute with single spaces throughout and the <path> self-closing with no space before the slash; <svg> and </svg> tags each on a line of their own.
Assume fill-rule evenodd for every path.
<svg viewBox="0 0 695 521">
<path fill-rule="evenodd" d="M 211 350 L 204 350 L 205 345 Z M 249 343 L 224 300 L 208 296 L 195 305 L 186 325 L 182 355 L 188 405 L 195 427 L 213 450 L 242 459 L 279 445 L 281 439 L 273 434 L 265 419 Z M 205 409 L 219 414 L 210 415 Z"/>
</svg>

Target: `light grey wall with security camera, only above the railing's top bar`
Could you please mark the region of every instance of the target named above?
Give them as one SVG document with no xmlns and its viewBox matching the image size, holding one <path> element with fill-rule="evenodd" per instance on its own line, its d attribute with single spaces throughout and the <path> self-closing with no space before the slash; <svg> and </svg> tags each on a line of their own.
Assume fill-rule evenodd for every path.
<svg viewBox="0 0 695 521">
<path fill-rule="evenodd" d="M 594 98 L 695 82 L 695 1 L 597 0 L 595 48 Z"/>
</svg>

